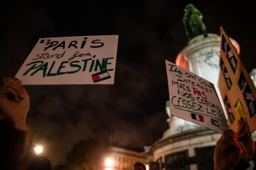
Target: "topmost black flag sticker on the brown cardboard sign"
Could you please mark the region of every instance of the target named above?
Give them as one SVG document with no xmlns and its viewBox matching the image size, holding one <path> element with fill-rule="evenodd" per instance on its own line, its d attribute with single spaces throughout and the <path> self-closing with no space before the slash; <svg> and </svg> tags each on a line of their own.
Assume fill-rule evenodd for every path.
<svg viewBox="0 0 256 170">
<path fill-rule="evenodd" d="M 228 42 L 224 35 L 222 34 L 222 50 L 226 55 L 226 58 L 228 59 L 228 62 L 230 64 L 230 67 L 232 68 L 233 73 L 236 72 L 236 65 L 237 65 L 237 60 L 236 57 L 234 56 L 230 46 L 228 45 Z"/>
</svg>

